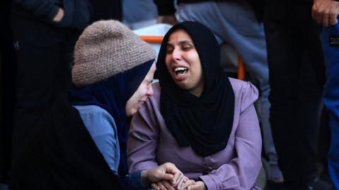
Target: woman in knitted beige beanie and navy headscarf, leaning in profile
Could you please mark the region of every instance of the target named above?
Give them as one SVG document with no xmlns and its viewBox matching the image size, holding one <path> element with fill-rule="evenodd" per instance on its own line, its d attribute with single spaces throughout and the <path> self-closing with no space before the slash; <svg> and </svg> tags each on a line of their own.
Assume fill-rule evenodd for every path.
<svg viewBox="0 0 339 190">
<path fill-rule="evenodd" d="M 127 118 L 153 94 L 154 60 L 152 47 L 118 21 L 88 26 L 76 43 L 74 89 L 28 134 L 13 161 L 11 189 L 143 189 L 160 179 L 176 184 L 182 173 L 171 163 L 127 175 Z"/>
</svg>

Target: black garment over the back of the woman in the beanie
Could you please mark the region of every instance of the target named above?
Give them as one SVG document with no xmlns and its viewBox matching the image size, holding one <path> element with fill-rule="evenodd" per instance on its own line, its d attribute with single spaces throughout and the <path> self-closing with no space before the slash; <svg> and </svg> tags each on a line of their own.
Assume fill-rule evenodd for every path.
<svg viewBox="0 0 339 190">
<path fill-rule="evenodd" d="M 124 189 L 66 96 L 28 135 L 13 160 L 10 189 Z"/>
</svg>

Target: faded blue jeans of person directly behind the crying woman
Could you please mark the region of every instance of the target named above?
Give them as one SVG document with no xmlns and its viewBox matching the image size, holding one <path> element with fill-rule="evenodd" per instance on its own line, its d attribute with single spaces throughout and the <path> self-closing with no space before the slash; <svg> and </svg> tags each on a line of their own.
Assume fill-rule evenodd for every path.
<svg viewBox="0 0 339 190">
<path fill-rule="evenodd" d="M 270 102 L 268 95 L 268 63 L 263 24 L 258 23 L 251 5 L 244 0 L 179 4 L 179 21 L 193 20 L 203 23 L 215 33 L 220 44 L 226 42 L 234 47 L 260 85 L 259 115 L 263 129 L 263 144 L 270 163 L 271 177 L 283 177 L 278 168 L 270 129 Z"/>
</svg>

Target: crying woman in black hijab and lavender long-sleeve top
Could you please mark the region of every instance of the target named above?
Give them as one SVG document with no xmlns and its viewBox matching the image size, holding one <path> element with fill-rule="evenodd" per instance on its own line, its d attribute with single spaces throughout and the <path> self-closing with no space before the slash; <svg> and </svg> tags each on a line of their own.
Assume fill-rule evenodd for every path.
<svg viewBox="0 0 339 190">
<path fill-rule="evenodd" d="M 186 189 L 258 189 L 258 91 L 225 75 L 214 34 L 200 23 L 174 25 L 162 42 L 157 72 L 160 83 L 131 121 L 130 172 L 171 162 L 191 179 Z"/>
</svg>

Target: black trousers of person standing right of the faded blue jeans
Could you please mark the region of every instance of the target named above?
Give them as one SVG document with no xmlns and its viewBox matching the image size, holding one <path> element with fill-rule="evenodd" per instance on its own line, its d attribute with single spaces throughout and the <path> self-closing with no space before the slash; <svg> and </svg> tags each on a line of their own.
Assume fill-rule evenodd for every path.
<svg viewBox="0 0 339 190">
<path fill-rule="evenodd" d="M 265 32 L 270 82 L 270 125 L 285 182 L 316 177 L 316 143 L 325 81 L 311 3 L 266 1 Z"/>
</svg>

